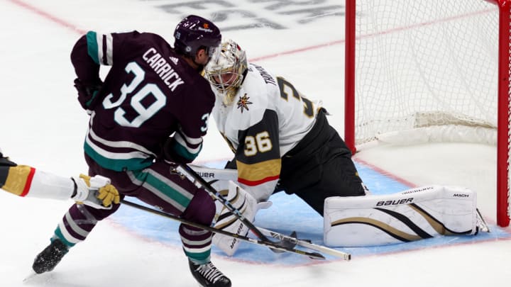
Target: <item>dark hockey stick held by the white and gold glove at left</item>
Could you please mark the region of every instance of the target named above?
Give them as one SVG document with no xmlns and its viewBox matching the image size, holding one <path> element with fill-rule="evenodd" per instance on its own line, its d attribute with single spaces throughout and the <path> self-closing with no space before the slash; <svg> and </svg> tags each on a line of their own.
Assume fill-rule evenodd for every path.
<svg viewBox="0 0 511 287">
<path fill-rule="evenodd" d="M 202 225 L 202 224 L 199 224 L 199 223 L 194 223 L 192 221 L 186 220 L 184 218 L 177 217 L 177 216 L 172 215 L 170 213 L 165 213 L 165 212 L 160 211 L 160 210 L 155 210 L 153 208 L 148 208 L 146 206 L 141 206 L 140 204 L 133 203 L 131 201 L 126 201 L 124 199 L 121 199 L 121 203 L 126 204 L 126 206 L 131 206 L 132 208 L 137 208 L 137 209 L 140 209 L 140 210 L 145 210 L 145 211 L 148 211 L 148 212 L 156 214 L 156 215 L 161 215 L 161 216 L 163 216 L 165 218 L 170 218 L 170 219 L 179 221 L 180 223 L 185 223 L 186 225 L 190 225 L 190 226 L 194 226 L 194 227 L 197 227 L 197 228 L 201 228 L 203 230 L 208 230 L 208 231 L 211 231 L 211 232 L 214 232 L 214 233 L 217 233 L 217 234 L 226 235 L 226 236 L 229 236 L 229 237 L 234 237 L 234 238 L 236 238 L 238 240 L 241 240 L 241 241 L 246 241 L 246 242 L 250 242 L 250 243 L 253 243 L 253 244 L 257 244 L 257 245 L 261 245 L 261 246 L 265 246 L 265 247 L 270 247 L 270 249 L 277 249 L 277 250 L 280 250 L 282 252 L 290 252 L 290 253 L 300 254 L 300 255 L 307 256 L 310 259 L 325 259 L 325 257 L 322 254 L 319 254 L 317 252 L 306 252 L 306 251 L 303 251 L 303 250 L 300 250 L 300 249 L 288 248 L 288 247 L 284 247 L 284 246 L 281 246 L 279 244 L 276 244 L 275 242 L 272 242 L 270 240 L 256 240 L 256 239 L 251 238 L 251 237 L 246 237 L 246 236 L 238 235 L 236 233 L 227 232 L 225 230 L 221 230 L 221 229 L 218 229 L 218 228 L 215 228 L 215 227 L 211 227 L 211 226 L 207 226 L 207 225 Z"/>
</svg>

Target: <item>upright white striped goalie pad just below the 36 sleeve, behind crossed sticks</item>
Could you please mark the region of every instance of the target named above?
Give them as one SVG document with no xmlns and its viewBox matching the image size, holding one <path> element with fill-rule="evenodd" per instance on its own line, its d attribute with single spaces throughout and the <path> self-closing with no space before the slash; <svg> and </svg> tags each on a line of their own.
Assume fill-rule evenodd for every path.
<svg viewBox="0 0 511 287">
<path fill-rule="evenodd" d="M 233 181 L 228 181 L 228 183 L 229 194 L 226 199 L 231 202 L 236 209 L 240 210 L 247 220 L 253 222 L 255 213 L 258 210 L 257 201 L 253 198 L 253 196 L 243 190 L 243 188 L 233 183 Z M 218 207 L 219 206 L 217 205 L 217 208 Z M 231 211 L 225 206 L 221 206 L 221 210 L 219 212 L 219 216 L 216 218 L 216 224 L 214 227 L 243 236 L 246 236 L 248 233 L 248 227 L 238 220 L 236 215 L 233 215 L 233 213 L 231 213 Z M 213 237 L 213 244 L 215 244 L 216 247 L 219 247 L 219 249 L 227 255 L 232 256 L 238 249 L 240 241 L 233 237 L 216 234 Z"/>
</svg>

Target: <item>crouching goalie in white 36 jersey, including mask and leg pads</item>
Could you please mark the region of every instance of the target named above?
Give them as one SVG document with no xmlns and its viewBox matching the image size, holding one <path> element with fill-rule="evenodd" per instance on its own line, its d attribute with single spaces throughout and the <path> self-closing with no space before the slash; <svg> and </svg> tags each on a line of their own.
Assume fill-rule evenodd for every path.
<svg viewBox="0 0 511 287">
<path fill-rule="evenodd" d="M 233 40 L 221 43 L 204 76 L 216 94 L 211 114 L 235 154 L 226 170 L 209 174 L 222 174 L 224 180 L 214 187 L 226 191 L 248 220 L 261 206 L 270 205 L 266 202 L 273 193 L 285 191 L 324 216 L 324 241 L 331 246 L 477 232 L 476 194 L 466 188 L 426 186 L 365 196 L 351 152 L 329 125 L 321 103 L 305 98 L 286 79 L 248 63 Z M 215 227 L 248 232 L 221 204 Z M 223 235 L 215 235 L 213 242 L 229 255 L 239 243 Z"/>
</svg>

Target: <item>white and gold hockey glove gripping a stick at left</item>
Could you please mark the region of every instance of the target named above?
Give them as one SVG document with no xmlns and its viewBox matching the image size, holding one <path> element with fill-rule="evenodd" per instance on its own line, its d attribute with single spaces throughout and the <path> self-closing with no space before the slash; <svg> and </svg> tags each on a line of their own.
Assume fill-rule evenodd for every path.
<svg viewBox="0 0 511 287">
<path fill-rule="evenodd" d="M 114 204 L 119 204 L 119 191 L 110 184 L 110 179 L 80 174 L 78 179 L 72 180 L 75 181 L 76 192 L 71 198 L 77 203 L 99 209 L 111 209 Z"/>
</svg>

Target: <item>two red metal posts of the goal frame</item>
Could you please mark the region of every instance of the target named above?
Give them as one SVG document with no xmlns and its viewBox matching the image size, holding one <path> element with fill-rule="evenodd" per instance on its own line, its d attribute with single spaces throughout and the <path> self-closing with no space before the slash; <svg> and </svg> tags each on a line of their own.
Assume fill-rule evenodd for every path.
<svg viewBox="0 0 511 287">
<path fill-rule="evenodd" d="M 344 86 L 344 139 L 353 154 L 355 144 L 356 111 L 356 1 L 346 0 L 346 46 Z M 498 6 L 498 120 L 497 120 L 497 224 L 510 225 L 509 207 L 509 166 L 510 166 L 510 10 L 511 0 L 485 0 Z"/>
</svg>

